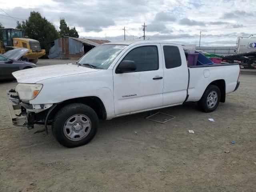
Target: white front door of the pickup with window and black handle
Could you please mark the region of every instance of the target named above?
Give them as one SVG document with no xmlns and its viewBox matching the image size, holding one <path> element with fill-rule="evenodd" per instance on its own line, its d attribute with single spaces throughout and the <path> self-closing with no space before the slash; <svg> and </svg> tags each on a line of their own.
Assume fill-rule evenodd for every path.
<svg viewBox="0 0 256 192">
<path fill-rule="evenodd" d="M 118 73 L 121 61 L 134 61 L 136 70 Z M 160 44 L 130 48 L 113 70 L 114 110 L 120 116 L 163 106 L 164 70 Z"/>
</svg>

